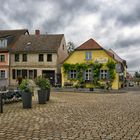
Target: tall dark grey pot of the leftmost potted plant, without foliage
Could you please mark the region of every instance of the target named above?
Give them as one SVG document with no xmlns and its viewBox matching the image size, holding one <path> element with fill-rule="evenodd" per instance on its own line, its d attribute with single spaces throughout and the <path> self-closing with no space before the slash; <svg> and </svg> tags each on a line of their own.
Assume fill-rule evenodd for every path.
<svg viewBox="0 0 140 140">
<path fill-rule="evenodd" d="M 32 107 L 32 93 L 31 92 L 22 92 L 22 103 L 23 108 L 31 108 Z"/>
</svg>

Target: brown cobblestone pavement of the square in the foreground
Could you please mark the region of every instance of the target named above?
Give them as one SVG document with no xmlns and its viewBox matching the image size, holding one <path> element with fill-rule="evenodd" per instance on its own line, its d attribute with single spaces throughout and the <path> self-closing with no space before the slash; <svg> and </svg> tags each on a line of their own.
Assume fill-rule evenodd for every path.
<svg viewBox="0 0 140 140">
<path fill-rule="evenodd" d="M 0 140 L 140 140 L 140 94 L 52 93 L 32 109 L 7 104 Z"/>
</svg>

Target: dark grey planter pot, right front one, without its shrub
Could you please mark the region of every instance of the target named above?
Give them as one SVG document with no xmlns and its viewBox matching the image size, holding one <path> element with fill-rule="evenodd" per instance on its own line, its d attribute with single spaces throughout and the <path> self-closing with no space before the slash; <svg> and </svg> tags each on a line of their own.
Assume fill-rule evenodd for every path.
<svg viewBox="0 0 140 140">
<path fill-rule="evenodd" d="M 47 91 L 46 90 L 38 90 L 38 103 L 46 104 Z"/>
</svg>

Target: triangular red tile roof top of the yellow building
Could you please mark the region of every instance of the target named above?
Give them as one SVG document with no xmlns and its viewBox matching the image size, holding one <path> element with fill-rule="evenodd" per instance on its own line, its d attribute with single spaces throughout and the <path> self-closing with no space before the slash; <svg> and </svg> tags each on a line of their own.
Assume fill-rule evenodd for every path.
<svg viewBox="0 0 140 140">
<path fill-rule="evenodd" d="M 75 50 L 100 50 L 103 49 L 95 40 L 92 38 L 80 45 Z"/>
</svg>

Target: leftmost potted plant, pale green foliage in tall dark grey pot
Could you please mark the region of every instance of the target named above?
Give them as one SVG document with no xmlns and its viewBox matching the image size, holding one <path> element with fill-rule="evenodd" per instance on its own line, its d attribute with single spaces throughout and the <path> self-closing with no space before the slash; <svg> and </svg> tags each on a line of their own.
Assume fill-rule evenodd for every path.
<svg viewBox="0 0 140 140">
<path fill-rule="evenodd" d="M 19 85 L 19 89 L 21 91 L 23 108 L 31 108 L 32 107 L 32 92 L 29 87 L 29 81 L 27 79 L 22 80 Z"/>
</svg>

